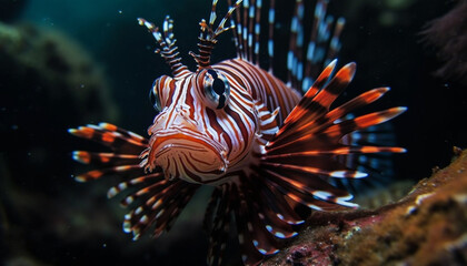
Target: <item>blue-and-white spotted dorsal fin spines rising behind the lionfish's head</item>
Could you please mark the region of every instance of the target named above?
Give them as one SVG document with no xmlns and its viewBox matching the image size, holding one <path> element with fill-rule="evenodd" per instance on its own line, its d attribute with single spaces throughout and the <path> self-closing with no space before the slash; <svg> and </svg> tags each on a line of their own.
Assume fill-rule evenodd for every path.
<svg viewBox="0 0 467 266">
<path fill-rule="evenodd" d="M 231 3 L 231 0 L 228 1 Z M 304 19 L 308 10 L 302 0 L 295 1 L 294 17 L 290 23 L 290 37 L 287 52 L 287 85 L 295 88 L 302 93 L 314 83 L 312 76 L 317 76 L 321 65 L 330 63 L 340 49 L 340 33 L 345 25 L 345 19 L 334 19 L 327 16 L 328 0 L 318 0 L 315 7 L 314 23 L 310 34 L 305 33 Z M 262 9 L 268 21 L 268 31 L 261 33 Z M 231 20 L 237 57 L 249 61 L 269 73 L 275 74 L 275 25 L 276 25 L 276 1 L 268 1 L 264 7 L 261 0 L 245 0 L 241 9 L 235 12 L 235 21 Z M 264 34 L 264 35 L 262 35 Z M 309 38 L 305 38 L 309 35 Z M 260 59 L 260 40 L 267 41 L 267 63 Z M 306 43 L 306 41 L 308 43 Z M 259 65 L 261 61 L 261 65 Z"/>
</svg>

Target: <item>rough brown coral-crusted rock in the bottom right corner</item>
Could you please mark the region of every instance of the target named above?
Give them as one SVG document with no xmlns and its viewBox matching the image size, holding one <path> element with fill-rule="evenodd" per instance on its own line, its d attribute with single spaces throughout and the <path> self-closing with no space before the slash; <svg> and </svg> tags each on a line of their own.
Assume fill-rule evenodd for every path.
<svg viewBox="0 0 467 266">
<path fill-rule="evenodd" d="M 301 236 L 264 265 L 465 265 L 467 151 L 377 209 L 316 212 Z"/>
</svg>

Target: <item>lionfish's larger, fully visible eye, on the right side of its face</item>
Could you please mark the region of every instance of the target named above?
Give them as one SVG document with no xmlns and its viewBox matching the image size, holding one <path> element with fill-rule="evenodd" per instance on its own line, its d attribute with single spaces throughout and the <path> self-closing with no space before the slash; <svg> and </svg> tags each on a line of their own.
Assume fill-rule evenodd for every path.
<svg viewBox="0 0 467 266">
<path fill-rule="evenodd" d="M 227 78 L 215 71 L 208 70 L 205 75 L 205 94 L 215 104 L 216 109 L 222 109 L 227 105 L 230 95 L 230 85 Z"/>
</svg>

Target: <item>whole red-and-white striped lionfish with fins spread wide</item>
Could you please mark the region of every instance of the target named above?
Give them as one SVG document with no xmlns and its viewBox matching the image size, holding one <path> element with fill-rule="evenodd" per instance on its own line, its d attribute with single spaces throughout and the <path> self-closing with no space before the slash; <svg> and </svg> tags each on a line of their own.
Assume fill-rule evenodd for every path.
<svg viewBox="0 0 467 266">
<path fill-rule="evenodd" d="M 74 151 L 76 161 L 101 167 L 76 178 L 122 178 L 108 191 L 108 197 L 129 191 L 121 202 L 131 208 L 125 215 L 123 231 L 132 233 L 135 239 L 149 229 L 155 237 L 169 231 L 197 190 L 213 186 L 205 216 L 210 236 L 208 264 L 222 263 L 230 236 L 236 235 L 244 264 L 257 265 L 278 253 L 284 239 L 298 234 L 296 225 L 305 219 L 298 207 L 357 207 L 350 202 L 352 195 L 331 185 L 332 180 L 366 177 L 366 172 L 349 167 L 348 162 L 355 157 L 405 150 L 356 145 L 352 134 L 406 109 L 348 116 L 381 98 L 388 88 L 370 90 L 330 109 L 352 80 L 356 64 L 336 70 L 336 60 L 328 60 L 330 63 L 312 82 L 316 65 L 339 49 L 344 27 L 342 19 L 326 16 L 327 0 L 316 3 L 307 47 L 305 6 L 296 0 L 287 83 L 275 76 L 272 68 L 275 0 L 268 3 L 266 27 L 260 23 L 261 0 L 238 0 L 234 4 L 228 0 L 228 12 L 216 27 L 217 3 L 212 1 L 209 21 L 199 23 L 198 53 L 190 52 L 197 63 L 195 72 L 181 62 L 169 17 L 162 30 L 138 19 L 155 37 L 160 47 L 157 52 L 172 73 L 158 78 L 150 90 L 158 111 L 148 129 L 150 137 L 109 123 L 70 129 L 76 136 L 111 149 L 110 153 Z M 260 35 L 265 35 L 261 28 L 268 28 L 269 68 L 259 64 Z M 237 58 L 211 64 L 218 37 L 228 30 L 234 31 Z M 306 92 L 301 96 L 302 89 Z"/>
</svg>

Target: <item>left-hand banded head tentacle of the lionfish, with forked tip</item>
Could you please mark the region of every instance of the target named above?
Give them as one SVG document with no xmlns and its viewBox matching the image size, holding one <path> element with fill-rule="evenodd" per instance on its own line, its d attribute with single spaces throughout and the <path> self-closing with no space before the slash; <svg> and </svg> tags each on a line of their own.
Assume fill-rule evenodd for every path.
<svg viewBox="0 0 467 266">
<path fill-rule="evenodd" d="M 138 22 L 140 25 L 146 25 L 159 43 L 160 48 L 156 50 L 156 53 L 160 53 L 167 64 L 169 64 L 175 79 L 181 79 L 190 73 L 187 65 L 181 63 L 180 52 L 176 45 L 177 40 L 172 32 L 173 20 L 171 20 L 169 16 L 163 20 L 163 35 L 159 31 L 159 27 L 156 27 L 152 22 L 141 18 L 138 18 Z"/>
</svg>

